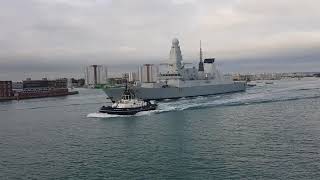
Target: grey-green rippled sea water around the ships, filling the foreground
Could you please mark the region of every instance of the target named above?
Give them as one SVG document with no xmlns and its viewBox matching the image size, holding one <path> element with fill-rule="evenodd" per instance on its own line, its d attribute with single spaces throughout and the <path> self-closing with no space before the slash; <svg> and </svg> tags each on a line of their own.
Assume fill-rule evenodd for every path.
<svg viewBox="0 0 320 180">
<path fill-rule="evenodd" d="M 0 179 L 319 179 L 320 79 L 96 113 L 101 90 L 0 103 Z"/>
</svg>

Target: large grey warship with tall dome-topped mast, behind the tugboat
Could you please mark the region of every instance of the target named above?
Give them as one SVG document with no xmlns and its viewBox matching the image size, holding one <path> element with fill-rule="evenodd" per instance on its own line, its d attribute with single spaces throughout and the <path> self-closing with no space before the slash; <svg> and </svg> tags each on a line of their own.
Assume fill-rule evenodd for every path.
<svg viewBox="0 0 320 180">
<path fill-rule="evenodd" d="M 201 42 L 200 42 L 201 44 Z M 131 87 L 138 98 L 144 100 L 177 99 L 245 91 L 246 82 L 235 82 L 224 77 L 216 68 L 214 58 L 203 60 L 200 45 L 198 68 L 183 63 L 179 40 L 174 38 L 167 69 L 158 74 L 156 82 L 136 82 Z M 114 102 L 121 98 L 125 88 L 104 88 Z"/>
</svg>

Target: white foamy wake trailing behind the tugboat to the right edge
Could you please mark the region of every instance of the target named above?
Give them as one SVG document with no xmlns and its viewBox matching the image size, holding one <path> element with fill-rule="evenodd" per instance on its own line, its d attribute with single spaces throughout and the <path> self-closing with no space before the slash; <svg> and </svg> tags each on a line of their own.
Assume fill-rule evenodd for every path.
<svg viewBox="0 0 320 180">
<path fill-rule="evenodd" d="M 289 83 L 289 84 L 287 84 Z M 129 116 L 146 116 L 171 111 L 196 110 L 220 106 L 248 106 L 254 104 L 295 101 L 300 99 L 320 98 L 319 81 L 278 82 L 274 85 L 263 85 L 248 88 L 246 92 L 224 94 L 215 96 L 200 96 L 195 98 L 181 98 L 179 100 L 166 100 L 158 102 L 158 109 L 140 112 Z M 128 117 L 109 115 L 104 113 L 88 114 L 89 118 Z"/>
</svg>

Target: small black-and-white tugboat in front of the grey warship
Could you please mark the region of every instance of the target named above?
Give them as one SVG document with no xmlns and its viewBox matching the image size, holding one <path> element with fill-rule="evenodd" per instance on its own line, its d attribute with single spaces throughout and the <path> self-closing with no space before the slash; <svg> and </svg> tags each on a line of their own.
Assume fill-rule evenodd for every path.
<svg viewBox="0 0 320 180">
<path fill-rule="evenodd" d="M 151 111 L 157 108 L 157 104 L 150 101 L 144 101 L 135 97 L 134 91 L 128 89 L 126 84 L 121 99 L 111 106 L 102 106 L 100 113 L 108 113 L 115 115 L 134 115 L 141 111 Z"/>
</svg>

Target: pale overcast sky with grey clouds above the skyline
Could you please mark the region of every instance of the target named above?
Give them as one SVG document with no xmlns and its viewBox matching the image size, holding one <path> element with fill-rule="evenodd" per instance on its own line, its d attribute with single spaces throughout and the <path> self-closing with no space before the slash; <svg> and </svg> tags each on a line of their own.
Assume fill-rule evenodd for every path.
<svg viewBox="0 0 320 180">
<path fill-rule="evenodd" d="M 0 78 L 158 63 L 174 37 L 185 61 L 202 40 L 226 71 L 320 71 L 319 0 L 0 2 Z"/>
</svg>

